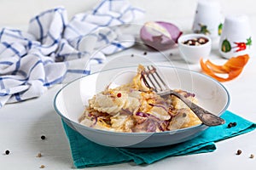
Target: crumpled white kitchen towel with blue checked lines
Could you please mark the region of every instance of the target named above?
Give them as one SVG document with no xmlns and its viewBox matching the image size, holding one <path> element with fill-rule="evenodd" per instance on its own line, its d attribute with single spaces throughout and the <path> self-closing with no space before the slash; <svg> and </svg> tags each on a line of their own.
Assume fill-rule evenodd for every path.
<svg viewBox="0 0 256 170">
<path fill-rule="evenodd" d="M 96 8 L 67 21 L 65 8 L 54 8 L 30 20 L 28 31 L 3 28 L 0 32 L 0 108 L 6 103 L 44 94 L 68 74 L 90 74 L 90 68 L 71 69 L 71 59 L 90 58 L 101 63 L 105 54 L 131 47 L 120 42 L 124 35 L 108 26 L 130 23 L 143 10 L 126 0 L 102 0 Z M 100 29 L 103 28 L 103 29 Z M 131 38 L 132 39 L 132 38 Z"/>
</svg>

